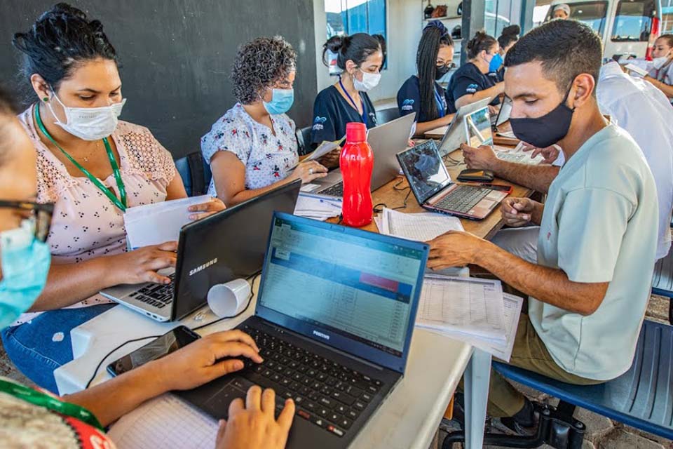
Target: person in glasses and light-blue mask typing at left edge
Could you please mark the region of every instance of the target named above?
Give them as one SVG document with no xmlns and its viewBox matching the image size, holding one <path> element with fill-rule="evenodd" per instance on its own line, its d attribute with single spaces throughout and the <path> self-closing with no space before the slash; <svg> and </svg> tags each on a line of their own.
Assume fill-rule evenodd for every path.
<svg viewBox="0 0 673 449">
<path fill-rule="evenodd" d="M 8 326 L 40 295 L 50 265 L 48 236 L 53 204 L 36 199 L 36 152 L 0 91 L 0 326 Z M 239 330 L 203 337 L 164 358 L 62 398 L 0 377 L 0 446 L 114 448 L 104 428 L 141 403 L 167 391 L 191 389 L 241 370 L 243 359 L 262 363 L 259 348 Z M 229 408 L 218 449 L 281 449 L 294 403 L 278 420 L 272 390 L 252 387 L 247 404 Z"/>
</svg>

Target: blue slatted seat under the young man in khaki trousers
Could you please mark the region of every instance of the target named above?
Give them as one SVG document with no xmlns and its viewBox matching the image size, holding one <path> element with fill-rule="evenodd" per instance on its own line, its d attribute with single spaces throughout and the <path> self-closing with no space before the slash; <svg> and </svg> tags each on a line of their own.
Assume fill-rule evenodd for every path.
<svg viewBox="0 0 673 449">
<path fill-rule="evenodd" d="M 508 379 L 570 404 L 673 439 L 673 327 L 644 321 L 633 364 L 627 373 L 604 384 L 566 384 L 528 370 L 494 362 Z M 561 405 L 559 405 L 560 407 Z M 572 412 L 571 412 L 572 413 Z"/>
</svg>

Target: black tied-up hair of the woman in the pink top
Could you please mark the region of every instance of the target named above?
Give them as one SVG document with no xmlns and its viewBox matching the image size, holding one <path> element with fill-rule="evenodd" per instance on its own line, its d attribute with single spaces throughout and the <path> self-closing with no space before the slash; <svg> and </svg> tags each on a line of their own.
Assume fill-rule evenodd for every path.
<svg viewBox="0 0 673 449">
<path fill-rule="evenodd" d="M 12 43 L 24 57 L 22 77 L 39 74 L 54 89 L 81 62 L 97 58 L 117 62 L 101 22 L 65 3 L 45 11 L 27 32 L 14 34 Z"/>
</svg>

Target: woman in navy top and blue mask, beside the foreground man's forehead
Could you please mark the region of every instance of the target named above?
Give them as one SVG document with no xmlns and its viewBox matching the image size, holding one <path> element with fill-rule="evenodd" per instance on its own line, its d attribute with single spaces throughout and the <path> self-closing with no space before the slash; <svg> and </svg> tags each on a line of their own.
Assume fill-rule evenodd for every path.
<svg viewBox="0 0 673 449">
<path fill-rule="evenodd" d="M 491 97 L 491 105 L 500 104 L 498 95 L 504 93 L 505 83 L 489 76 L 489 65 L 500 50 L 498 41 L 484 32 L 477 32 L 468 42 L 468 62 L 456 70 L 449 81 L 447 98 L 456 109 Z"/>
</svg>

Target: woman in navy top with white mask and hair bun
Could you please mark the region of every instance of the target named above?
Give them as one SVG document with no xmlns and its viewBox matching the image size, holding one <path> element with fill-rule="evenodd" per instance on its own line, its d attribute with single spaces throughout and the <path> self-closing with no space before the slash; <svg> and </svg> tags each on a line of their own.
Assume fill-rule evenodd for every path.
<svg viewBox="0 0 673 449">
<path fill-rule="evenodd" d="M 344 137 L 346 123 L 365 123 L 367 129 L 376 126 L 376 111 L 367 91 L 379 83 L 383 66 L 381 42 L 366 33 L 334 36 L 322 48 L 322 62 L 327 65 L 325 55 L 327 50 L 332 51 L 337 54 L 337 67 L 343 72 L 336 83 L 318 93 L 313 103 L 314 149 L 324 140 L 333 142 Z"/>
</svg>

